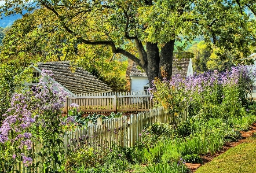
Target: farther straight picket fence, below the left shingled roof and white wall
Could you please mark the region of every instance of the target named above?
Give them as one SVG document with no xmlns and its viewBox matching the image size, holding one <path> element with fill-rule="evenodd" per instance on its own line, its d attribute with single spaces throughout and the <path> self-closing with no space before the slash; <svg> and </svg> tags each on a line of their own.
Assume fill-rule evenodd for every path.
<svg viewBox="0 0 256 173">
<path fill-rule="evenodd" d="M 123 93 L 95 93 L 71 95 L 67 98 L 64 112 L 72 103 L 80 106 L 83 112 L 137 112 L 153 108 L 151 95 L 145 91 Z"/>
</svg>

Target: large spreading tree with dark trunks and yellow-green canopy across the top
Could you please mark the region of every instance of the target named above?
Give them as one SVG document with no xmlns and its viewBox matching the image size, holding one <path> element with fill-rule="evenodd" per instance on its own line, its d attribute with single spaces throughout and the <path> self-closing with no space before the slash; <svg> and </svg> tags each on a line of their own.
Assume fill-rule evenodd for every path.
<svg viewBox="0 0 256 173">
<path fill-rule="evenodd" d="M 179 35 L 187 42 L 202 35 L 206 42 L 237 58 L 241 53 L 247 56 L 249 47 L 255 44 L 254 1 L 8 0 L 0 9 L 2 14 L 10 15 L 38 8 L 47 11 L 48 16 L 41 17 L 50 20 L 52 30 L 46 30 L 45 23 L 36 25 L 36 30 L 61 30 L 76 44 L 107 45 L 112 53 L 136 62 L 149 80 L 162 78 L 161 69 L 171 77 Z M 38 38 L 43 35 L 35 34 Z M 182 51 L 182 47 L 177 48 Z"/>
</svg>

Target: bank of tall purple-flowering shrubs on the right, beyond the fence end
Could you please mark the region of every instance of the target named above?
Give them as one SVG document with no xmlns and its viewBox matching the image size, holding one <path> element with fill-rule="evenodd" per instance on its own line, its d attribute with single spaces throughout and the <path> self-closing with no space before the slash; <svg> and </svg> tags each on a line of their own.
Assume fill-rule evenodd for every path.
<svg viewBox="0 0 256 173">
<path fill-rule="evenodd" d="M 246 66 L 225 72 L 204 72 L 186 79 L 177 75 L 171 80 L 153 80 L 149 92 L 155 102 L 174 116 L 188 108 L 191 116 L 227 118 L 240 115 L 240 109 L 248 102 L 248 86 L 255 75 L 255 69 Z"/>
</svg>

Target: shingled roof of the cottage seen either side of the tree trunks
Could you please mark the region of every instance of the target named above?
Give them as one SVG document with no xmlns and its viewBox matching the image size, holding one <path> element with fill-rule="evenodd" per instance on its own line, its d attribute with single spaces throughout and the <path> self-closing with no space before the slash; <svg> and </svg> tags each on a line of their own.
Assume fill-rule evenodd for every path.
<svg viewBox="0 0 256 173">
<path fill-rule="evenodd" d="M 176 58 L 173 57 L 173 75 L 180 74 L 182 78 L 186 78 L 188 72 L 189 58 Z M 147 77 L 147 73 L 141 72 L 138 68 L 138 65 L 133 62 L 133 65 L 130 70 L 130 76 L 141 76 Z"/>
</svg>

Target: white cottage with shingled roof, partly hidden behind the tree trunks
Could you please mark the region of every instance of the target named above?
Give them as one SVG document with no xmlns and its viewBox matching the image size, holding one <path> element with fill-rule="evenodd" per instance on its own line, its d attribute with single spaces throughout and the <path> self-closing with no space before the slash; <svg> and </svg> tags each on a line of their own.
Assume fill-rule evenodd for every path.
<svg viewBox="0 0 256 173">
<path fill-rule="evenodd" d="M 126 71 L 126 78 L 128 78 L 129 89 L 131 91 L 145 91 L 148 92 L 149 81 L 147 73 L 142 72 L 137 68 L 138 65 L 129 61 L 129 66 Z M 173 75 L 180 74 L 183 78 L 193 75 L 193 67 L 191 58 L 175 58 L 173 57 Z"/>
</svg>

